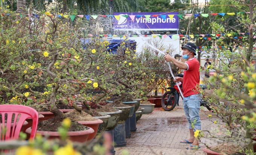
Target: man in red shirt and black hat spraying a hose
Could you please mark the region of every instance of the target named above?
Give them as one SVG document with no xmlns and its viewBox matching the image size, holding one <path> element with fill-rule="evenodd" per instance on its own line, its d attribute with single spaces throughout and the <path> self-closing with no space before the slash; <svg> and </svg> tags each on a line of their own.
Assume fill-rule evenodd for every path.
<svg viewBox="0 0 256 155">
<path fill-rule="evenodd" d="M 166 61 L 172 61 L 178 68 L 185 70 L 183 78 L 175 77 L 177 81 L 183 82 L 183 109 L 189 122 L 190 138 L 180 141 L 180 143 L 191 144 L 187 149 L 200 148 L 198 140 L 194 136 L 196 130 L 201 130 L 201 121 L 199 116 L 201 94 L 197 91 L 197 85 L 200 81 L 200 64 L 195 58 L 197 46 L 194 43 L 186 43 L 183 47 L 183 58 L 187 60 L 186 63 L 176 60 L 168 54 L 165 54 Z M 191 123 L 194 124 L 194 128 Z"/>
</svg>

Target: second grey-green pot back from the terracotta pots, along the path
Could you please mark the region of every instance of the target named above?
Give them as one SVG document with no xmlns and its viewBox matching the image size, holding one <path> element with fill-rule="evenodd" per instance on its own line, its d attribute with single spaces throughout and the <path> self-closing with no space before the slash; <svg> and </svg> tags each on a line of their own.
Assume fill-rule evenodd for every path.
<svg viewBox="0 0 256 155">
<path fill-rule="evenodd" d="M 110 115 L 110 118 L 108 119 L 108 126 L 106 128 L 106 131 L 114 130 L 116 125 L 119 121 L 120 113 L 122 113 L 122 110 L 116 109 L 116 112 L 100 112 L 103 115 Z"/>
</svg>

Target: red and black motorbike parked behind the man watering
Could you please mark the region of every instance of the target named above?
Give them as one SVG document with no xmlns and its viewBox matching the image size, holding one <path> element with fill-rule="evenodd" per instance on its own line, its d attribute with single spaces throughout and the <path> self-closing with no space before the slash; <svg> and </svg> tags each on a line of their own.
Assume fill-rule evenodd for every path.
<svg viewBox="0 0 256 155">
<path fill-rule="evenodd" d="M 183 78 L 183 73 L 180 73 L 177 76 Z M 178 82 L 178 85 L 180 86 L 181 92 L 183 93 L 182 82 Z M 203 90 L 206 89 L 206 86 L 203 85 L 203 84 L 200 84 L 200 87 Z M 165 94 L 163 94 L 163 97 L 162 97 L 162 100 L 161 100 L 161 105 L 162 105 L 164 110 L 171 111 L 171 110 L 174 109 L 176 104 L 179 106 L 179 99 L 180 99 L 181 95 L 180 95 L 180 91 L 179 91 L 178 86 L 177 86 L 176 83 L 173 86 L 171 86 L 167 89 L 170 89 L 170 91 L 167 91 L 167 92 L 165 92 Z M 181 96 L 181 98 L 182 98 L 182 96 Z M 204 106 L 208 110 L 212 110 L 209 107 L 209 103 L 204 101 L 204 99 L 202 99 L 200 102 L 201 102 L 200 106 Z"/>
</svg>

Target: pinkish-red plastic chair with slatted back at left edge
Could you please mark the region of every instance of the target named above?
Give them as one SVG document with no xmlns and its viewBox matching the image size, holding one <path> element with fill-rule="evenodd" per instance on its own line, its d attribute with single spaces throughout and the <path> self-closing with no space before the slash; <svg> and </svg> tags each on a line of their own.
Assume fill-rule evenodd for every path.
<svg viewBox="0 0 256 155">
<path fill-rule="evenodd" d="M 2 120 L 1 120 L 2 124 L 0 127 L 1 141 L 18 139 L 22 125 L 24 124 L 27 118 L 32 118 L 33 120 L 30 140 L 34 140 L 35 134 L 37 132 L 37 125 L 38 125 L 38 113 L 35 109 L 28 106 L 22 106 L 22 105 L 16 105 L 16 104 L 3 104 L 3 105 L 0 105 L 0 114 L 2 115 Z M 7 114 L 6 123 L 5 123 L 5 114 Z M 12 123 L 13 114 L 15 114 L 15 117 L 14 117 L 14 122 Z M 20 117 L 18 118 L 19 114 L 20 114 Z M 17 122 L 17 118 L 18 118 L 18 122 Z M 5 125 L 3 125 L 3 122 Z M 11 131 L 12 124 L 13 124 L 13 127 Z M 6 127 L 6 132 L 5 134 L 2 134 L 3 131 L 5 130 L 5 127 Z"/>
</svg>

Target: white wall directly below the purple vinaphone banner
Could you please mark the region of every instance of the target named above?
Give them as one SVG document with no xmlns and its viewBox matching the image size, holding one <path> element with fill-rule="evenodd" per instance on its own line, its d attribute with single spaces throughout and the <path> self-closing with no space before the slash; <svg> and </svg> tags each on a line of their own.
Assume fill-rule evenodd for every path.
<svg viewBox="0 0 256 155">
<path fill-rule="evenodd" d="M 157 34 L 156 34 L 157 35 Z M 157 35 L 158 36 L 158 35 Z M 165 45 L 169 45 L 169 44 L 172 44 L 174 46 L 174 48 L 176 48 L 175 52 L 174 52 L 174 55 L 175 54 L 180 54 L 180 39 L 179 39 L 180 36 L 177 36 L 176 40 L 174 39 L 174 37 L 172 36 L 172 39 L 169 37 L 169 36 L 166 36 L 166 37 L 163 37 L 162 36 L 162 40 L 163 40 L 163 43 Z M 120 39 L 120 37 L 111 37 L 112 39 Z M 121 38 L 121 39 L 124 39 L 124 38 Z M 148 41 L 149 39 L 158 39 L 158 40 L 161 40 L 160 37 L 155 37 L 153 38 L 152 36 L 146 36 L 146 37 L 143 37 L 143 40 L 141 37 L 128 37 L 128 39 L 131 39 L 131 40 L 135 40 L 137 42 L 137 48 L 136 48 L 136 52 L 140 53 L 141 50 L 142 50 L 142 46 L 144 45 L 145 46 L 145 43 L 143 42 L 143 40 L 145 41 Z"/>
</svg>

